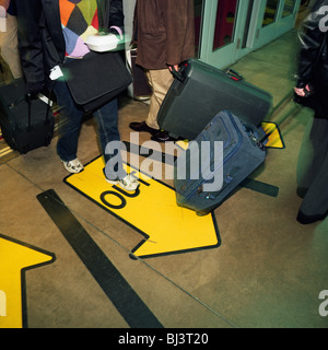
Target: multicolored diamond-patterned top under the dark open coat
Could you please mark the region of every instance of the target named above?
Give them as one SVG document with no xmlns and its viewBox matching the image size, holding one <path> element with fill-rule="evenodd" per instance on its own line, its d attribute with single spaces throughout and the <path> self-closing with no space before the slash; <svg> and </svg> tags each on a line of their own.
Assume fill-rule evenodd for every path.
<svg viewBox="0 0 328 350">
<path fill-rule="evenodd" d="M 59 0 L 59 9 L 67 56 L 83 57 L 87 36 L 98 31 L 96 0 Z"/>
</svg>

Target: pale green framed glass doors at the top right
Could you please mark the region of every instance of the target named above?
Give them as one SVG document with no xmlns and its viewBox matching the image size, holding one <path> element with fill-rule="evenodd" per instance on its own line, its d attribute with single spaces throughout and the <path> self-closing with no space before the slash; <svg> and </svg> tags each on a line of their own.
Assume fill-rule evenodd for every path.
<svg viewBox="0 0 328 350">
<path fill-rule="evenodd" d="M 194 1 L 197 57 L 221 69 L 292 30 L 301 3 L 301 0 Z"/>
</svg>

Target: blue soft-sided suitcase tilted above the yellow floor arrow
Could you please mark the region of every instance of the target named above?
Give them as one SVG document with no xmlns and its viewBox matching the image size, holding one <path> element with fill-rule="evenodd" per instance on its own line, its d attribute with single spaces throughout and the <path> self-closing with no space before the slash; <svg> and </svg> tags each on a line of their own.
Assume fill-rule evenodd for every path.
<svg viewBox="0 0 328 350">
<path fill-rule="evenodd" d="M 177 205 L 199 215 L 219 207 L 265 162 L 262 137 L 255 126 L 220 112 L 175 162 Z"/>
</svg>

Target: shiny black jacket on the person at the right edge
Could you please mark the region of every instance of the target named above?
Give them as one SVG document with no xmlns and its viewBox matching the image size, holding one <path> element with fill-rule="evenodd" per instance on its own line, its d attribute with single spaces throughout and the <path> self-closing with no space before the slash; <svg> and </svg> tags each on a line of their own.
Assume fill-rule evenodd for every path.
<svg viewBox="0 0 328 350">
<path fill-rule="evenodd" d="M 298 82 L 297 88 L 311 83 L 314 95 L 308 103 L 317 116 L 328 118 L 328 18 L 323 7 L 328 0 L 316 0 L 298 34 Z"/>
</svg>

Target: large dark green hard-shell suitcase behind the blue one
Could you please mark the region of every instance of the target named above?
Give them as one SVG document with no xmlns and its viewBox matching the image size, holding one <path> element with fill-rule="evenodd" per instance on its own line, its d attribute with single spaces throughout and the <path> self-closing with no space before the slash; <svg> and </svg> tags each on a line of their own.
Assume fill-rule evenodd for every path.
<svg viewBox="0 0 328 350">
<path fill-rule="evenodd" d="M 268 92 L 247 83 L 236 72 L 190 59 L 175 73 L 157 121 L 172 137 L 194 140 L 220 110 L 231 110 L 259 126 L 271 106 Z"/>
</svg>

